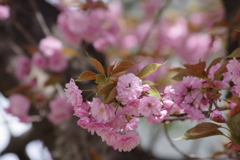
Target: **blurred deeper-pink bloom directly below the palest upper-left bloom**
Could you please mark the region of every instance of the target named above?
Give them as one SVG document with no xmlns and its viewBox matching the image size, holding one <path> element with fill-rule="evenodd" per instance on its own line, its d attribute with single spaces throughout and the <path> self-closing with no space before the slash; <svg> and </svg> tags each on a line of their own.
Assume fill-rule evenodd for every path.
<svg viewBox="0 0 240 160">
<path fill-rule="evenodd" d="M 62 72 L 67 69 L 68 60 L 58 52 L 48 57 L 48 68 L 53 72 Z"/>
</svg>

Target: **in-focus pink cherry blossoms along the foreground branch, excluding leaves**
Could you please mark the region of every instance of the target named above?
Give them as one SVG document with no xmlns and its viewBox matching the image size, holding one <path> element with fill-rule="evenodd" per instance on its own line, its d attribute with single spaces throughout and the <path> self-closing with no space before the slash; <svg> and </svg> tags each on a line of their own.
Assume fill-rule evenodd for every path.
<svg viewBox="0 0 240 160">
<path fill-rule="evenodd" d="M 74 115 L 79 117 L 78 125 L 94 134 L 96 132 L 103 141 L 119 151 L 130 151 L 139 144 L 139 135 L 135 131 L 140 117 L 146 117 L 150 124 L 160 123 L 171 114 L 186 114 L 191 120 L 208 118 L 204 111 L 215 105 L 210 117 L 226 122 L 219 111 L 221 91 L 229 90 L 239 97 L 239 66 L 233 58 L 216 79 L 216 72 L 222 65 L 216 63 L 209 68 L 206 78 L 184 76 L 181 81 L 167 86 L 161 96 L 151 94 L 152 87 L 133 73 L 118 77 L 116 95 L 113 102 L 94 97 L 92 101 L 83 100 L 82 91 L 75 81 L 66 84 L 65 94 L 68 102 L 74 107 Z M 232 81 L 234 86 L 230 86 Z M 111 96 L 111 95 L 109 95 Z M 232 108 L 236 103 L 229 102 Z"/>
</svg>

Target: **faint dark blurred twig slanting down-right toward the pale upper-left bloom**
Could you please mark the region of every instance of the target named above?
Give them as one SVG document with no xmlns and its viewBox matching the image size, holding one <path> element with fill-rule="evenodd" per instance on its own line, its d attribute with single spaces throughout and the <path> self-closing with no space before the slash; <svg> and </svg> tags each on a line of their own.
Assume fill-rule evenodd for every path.
<svg viewBox="0 0 240 160">
<path fill-rule="evenodd" d="M 32 45 L 34 45 L 34 46 L 37 46 L 37 43 L 36 43 L 36 42 L 34 41 L 34 39 L 28 34 L 28 32 L 24 29 L 24 27 L 23 27 L 20 23 L 18 23 L 18 22 L 17 22 L 15 19 L 13 19 L 13 18 L 11 18 L 10 20 L 11 20 L 13 26 L 14 26 L 20 33 L 22 33 L 22 35 L 26 38 L 26 40 L 27 40 L 30 44 L 32 44 Z"/>
</svg>

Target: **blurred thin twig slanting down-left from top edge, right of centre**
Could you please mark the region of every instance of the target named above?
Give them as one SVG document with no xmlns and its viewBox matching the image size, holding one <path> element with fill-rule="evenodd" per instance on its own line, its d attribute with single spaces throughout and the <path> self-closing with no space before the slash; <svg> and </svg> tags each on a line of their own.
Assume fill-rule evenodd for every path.
<svg viewBox="0 0 240 160">
<path fill-rule="evenodd" d="M 139 45 L 138 50 L 136 51 L 135 55 L 138 54 L 143 47 L 145 46 L 146 42 L 148 41 L 149 36 L 151 35 L 151 32 L 153 31 L 153 29 L 155 28 L 156 24 L 158 23 L 160 16 L 162 15 L 163 11 L 168 7 L 168 5 L 171 3 L 171 0 L 166 0 L 166 4 L 165 6 L 161 7 L 158 12 L 157 15 L 154 18 L 154 21 L 152 23 L 152 25 L 150 26 L 149 30 L 147 31 L 147 33 L 145 34 L 141 44 Z"/>
</svg>

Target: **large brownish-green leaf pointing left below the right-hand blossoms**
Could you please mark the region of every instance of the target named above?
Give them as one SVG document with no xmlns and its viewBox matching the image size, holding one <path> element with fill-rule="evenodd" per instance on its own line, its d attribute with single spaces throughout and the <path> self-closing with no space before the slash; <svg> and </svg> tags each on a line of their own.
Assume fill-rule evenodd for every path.
<svg viewBox="0 0 240 160">
<path fill-rule="evenodd" d="M 215 123 L 203 122 L 189 129 L 183 136 L 175 140 L 199 139 L 216 135 L 224 135 L 220 130 L 218 130 L 220 127 L 221 125 L 217 125 Z"/>
</svg>

